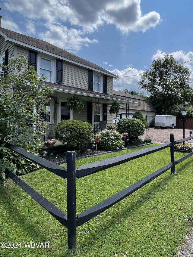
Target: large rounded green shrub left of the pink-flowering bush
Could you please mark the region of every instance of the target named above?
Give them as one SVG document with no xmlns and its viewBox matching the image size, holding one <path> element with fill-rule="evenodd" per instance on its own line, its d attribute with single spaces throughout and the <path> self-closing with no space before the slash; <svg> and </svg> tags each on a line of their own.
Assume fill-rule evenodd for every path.
<svg viewBox="0 0 193 257">
<path fill-rule="evenodd" d="M 93 138 L 93 127 L 80 120 L 63 120 L 55 128 L 55 138 L 67 144 L 70 150 L 80 150 Z"/>
</svg>

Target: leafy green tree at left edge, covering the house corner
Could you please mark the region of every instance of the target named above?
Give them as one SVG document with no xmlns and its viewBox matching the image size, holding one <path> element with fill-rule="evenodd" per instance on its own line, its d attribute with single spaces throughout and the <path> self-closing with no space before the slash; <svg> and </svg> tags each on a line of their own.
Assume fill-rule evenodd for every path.
<svg viewBox="0 0 193 257">
<path fill-rule="evenodd" d="M 51 88 L 44 85 L 45 77 L 37 75 L 24 57 L 11 60 L 5 68 L 8 73 L 0 77 L 0 140 L 7 141 L 29 151 L 41 147 L 40 136 L 44 135 L 46 123 L 41 113 L 46 113 Z M 41 129 L 34 130 L 38 126 Z M 0 150 L 3 150 L 1 146 Z M 0 164 L 0 179 L 5 178 L 6 169 L 15 170 L 13 158 L 6 153 L 4 164 Z M 2 160 L 0 160 L 2 162 Z"/>
</svg>

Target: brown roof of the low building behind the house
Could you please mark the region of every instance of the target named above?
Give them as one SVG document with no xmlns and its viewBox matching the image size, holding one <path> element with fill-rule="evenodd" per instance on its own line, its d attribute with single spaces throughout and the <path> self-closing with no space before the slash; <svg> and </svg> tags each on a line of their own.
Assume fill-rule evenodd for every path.
<svg viewBox="0 0 193 257">
<path fill-rule="evenodd" d="M 138 104 L 129 103 L 129 109 L 157 112 L 157 110 L 153 107 L 150 101 L 142 98 L 141 96 L 128 94 L 120 91 L 115 91 L 115 90 L 113 90 L 113 95 L 116 98 L 120 97 L 121 99 L 128 100 L 131 102 L 138 102 Z M 125 104 L 120 104 L 120 108 L 125 109 Z"/>
</svg>

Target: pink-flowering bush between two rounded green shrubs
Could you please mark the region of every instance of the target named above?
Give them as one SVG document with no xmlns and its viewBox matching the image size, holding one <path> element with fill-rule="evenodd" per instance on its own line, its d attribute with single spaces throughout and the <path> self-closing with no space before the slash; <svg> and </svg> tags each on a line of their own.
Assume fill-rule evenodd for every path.
<svg viewBox="0 0 193 257">
<path fill-rule="evenodd" d="M 94 141 L 100 142 L 101 148 L 104 150 L 119 150 L 124 147 L 121 133 L 114 129 L 103 129 L 101 133 L 96 134 Z"/>
</svg>

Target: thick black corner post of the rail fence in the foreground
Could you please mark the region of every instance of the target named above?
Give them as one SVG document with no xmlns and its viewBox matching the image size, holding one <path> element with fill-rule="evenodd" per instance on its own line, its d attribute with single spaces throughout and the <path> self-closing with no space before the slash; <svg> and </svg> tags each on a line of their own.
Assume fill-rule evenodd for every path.
<svg viewBox="0 0 193 257">
<path fill-rule="evenodd" d="M 68 249 L 76 252 L 76 152 L 66 153 Z"/>
</svg>

